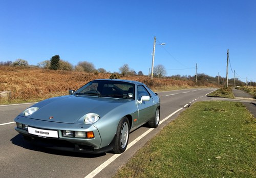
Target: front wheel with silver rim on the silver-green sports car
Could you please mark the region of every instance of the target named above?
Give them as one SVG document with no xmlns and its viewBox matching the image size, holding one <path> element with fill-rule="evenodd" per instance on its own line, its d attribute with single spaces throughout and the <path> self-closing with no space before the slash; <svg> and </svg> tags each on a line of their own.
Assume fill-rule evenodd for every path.
<svg viewBox="0 0 256 178">
<path fill-rule="evenodd" d="M 113 152 L 120 154 L 125 151 L 129 141 L 130 124 L 126 117 L 123 117 L 117 126 L 117 133 Z"/>
</svg>

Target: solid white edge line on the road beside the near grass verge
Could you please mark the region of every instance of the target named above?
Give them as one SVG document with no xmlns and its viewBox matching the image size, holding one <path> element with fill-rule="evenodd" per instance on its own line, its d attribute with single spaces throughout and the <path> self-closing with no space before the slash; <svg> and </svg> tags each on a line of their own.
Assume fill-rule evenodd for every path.
<svg viewBox="0 0 256 178">
<path fill-rule="evenodd" d="M 164 118 L 161 122 L 159 122 L 159 125 L 162 124 L 164 121 L 166 121 L 167 119 L 169 119 L 170 117 L 172 117 L 173 115 L 175 115 L 176 113 L 178 113 L 181 109 L 183 109 L 183 107 L 179 108 L 178 110 L 176 110 L 174 113 L 170 114 L 169 116 L 167 116 L 166 118 Z M 131 148 L 134 144 L 136 144 L 139 140 L 141 140 L 143 137 L 145 137 L 148 133 L 150 133 L 152 130 L 154 130 L 154 128 L 150 128 L 148 129 L 146 132 L 144 132 L 141 136 L 139 136 L 137 139 L 135 139 L 134 141 L 132 141 L 131 143 L 129 143 L 127 145 L 127 149 Z M 125 150 L 125 151 L 126 151 Z M 112 163 L 113 161 L 115 161 L 121 154 L 114 154 L 111 158 L 109 158 L 108 160 L 106 160 L 104 163 L 102 163 L 100 166 L 98 166 L 96 169 L 94 169 L 91 173 L 89 173 L 87 176 L 85 176 L 84 178 L 93 178 L 95 175 L 97 175 L 101 170 L 103 170 L 106 166 L 108 166 L 110 163 Z"/>
</svg>

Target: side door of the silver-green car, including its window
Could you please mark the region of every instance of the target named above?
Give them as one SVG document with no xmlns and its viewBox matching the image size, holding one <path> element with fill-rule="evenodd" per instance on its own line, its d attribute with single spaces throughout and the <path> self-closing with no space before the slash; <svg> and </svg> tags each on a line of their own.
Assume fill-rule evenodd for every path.
<svg viewBox="0 0 256 178">
<path fill-rule="evenodd" d="M 140 101 L 142 96 L 150 96 L 150 101 L 143 101 L 141 104 L 138 103 L 138 122 L 139 125 L 146 123 L 155 115 L 155 101 L 151 97 L 150 93 L 146 90 L 143 85 L 137 86 L 137 100 Z"/>
</svg>

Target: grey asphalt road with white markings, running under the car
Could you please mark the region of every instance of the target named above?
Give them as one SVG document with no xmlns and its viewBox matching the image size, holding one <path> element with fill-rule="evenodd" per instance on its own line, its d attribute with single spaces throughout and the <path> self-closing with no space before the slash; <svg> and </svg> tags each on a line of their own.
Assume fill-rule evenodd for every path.
<svg viewBox="0 0 256 178">
<path fill-rule="evenodd" d="M 205 95 L 213 88 L 159 92 L 160 125 L 145 126 L 130 135 L 128 149 L 122 154 L 84 154 L 39 148 L 25 142 L 14 130 L 13 119 L 32 104 L 0 106 L 1 177 L 111 177 L 148 140 L 182 110 L 196 101 L 210 100 Z"/>
</svg>

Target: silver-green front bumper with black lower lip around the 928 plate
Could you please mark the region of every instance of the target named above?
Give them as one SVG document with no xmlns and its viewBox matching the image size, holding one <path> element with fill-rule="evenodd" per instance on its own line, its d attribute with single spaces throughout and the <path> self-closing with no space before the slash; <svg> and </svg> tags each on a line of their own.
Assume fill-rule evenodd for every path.
<svg viewBox="0 0 256 178">
<path fill-rule="evenodd" d="M 26 129 L 21 129 L 15 127 L 15 130 L 21 133 L 25 140 L 31 141 L 35 145 L 43 146 L 51 149 L 65 150 L 65 151 L 75 151 L 75 152 L 86 152 L 86 153 L 100 153 L 106 152 L 113 149 L 112 141 L 108 146 L 101 148 L 101 137 L 98 129 L 93 125 L 86 124 L 68 124 L 68 123 L 58 123 L 51 121 L 42 121 L 36 119 L 28 119 L 26 117 L 17 116 L 14 119 L 15 122 L 26 124 L 29 127 L 46 129 L 46 130 L 56 130 L 58 132 L 58 138 L 45 137 L 42 138 L 37 135 L 33 135 Z M 62 136 L 62 130 L 72 130 L 72 131 L 93 131 L 94 138 L 69 138 Z"/>
</svg>

